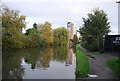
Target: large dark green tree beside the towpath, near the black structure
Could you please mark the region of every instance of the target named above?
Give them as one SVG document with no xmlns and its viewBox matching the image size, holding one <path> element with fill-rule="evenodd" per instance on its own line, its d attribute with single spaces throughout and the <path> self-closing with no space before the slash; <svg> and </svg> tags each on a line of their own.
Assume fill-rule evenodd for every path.
<svg viewBox="0 0 120 81">
<path fill-rule="evenodd" d="M 99 8 L 93 9 L 88 18 L 83 18 L 83 22 L 83 27 L 79 29 L 82 45 L 92 51 L 100 50 L 103 36 L 110 32 L 107 14 Z"/>
</svg>

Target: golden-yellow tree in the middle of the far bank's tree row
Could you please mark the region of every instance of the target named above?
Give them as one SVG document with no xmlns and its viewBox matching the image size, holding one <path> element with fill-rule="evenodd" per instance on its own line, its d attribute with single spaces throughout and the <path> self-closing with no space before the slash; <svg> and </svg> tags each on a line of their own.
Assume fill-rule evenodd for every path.
<svg viewBox="0 0 120 81">
<path fill-rule="evenodd" d="M 51 45 L 53 43 L 53 30 L 51 28 L 51 23 L 45 22 L 41 25 L 40 32 L 47 45 Z"/>
</svg>

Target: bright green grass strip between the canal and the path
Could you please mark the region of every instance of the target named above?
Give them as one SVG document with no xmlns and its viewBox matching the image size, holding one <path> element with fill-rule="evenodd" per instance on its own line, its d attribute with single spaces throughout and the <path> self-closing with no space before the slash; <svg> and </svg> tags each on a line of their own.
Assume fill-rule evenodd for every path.
<svg viewBox="0 0 120 81">
<path fill-rule="evenodd" d="M 86 77 L 89 73 L 90 65 L 88 57 L 80 49 L 80 47 L 76 45 L 76 77 Z"/>
</svg>

